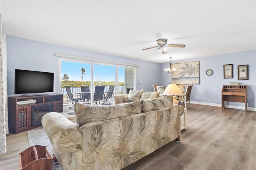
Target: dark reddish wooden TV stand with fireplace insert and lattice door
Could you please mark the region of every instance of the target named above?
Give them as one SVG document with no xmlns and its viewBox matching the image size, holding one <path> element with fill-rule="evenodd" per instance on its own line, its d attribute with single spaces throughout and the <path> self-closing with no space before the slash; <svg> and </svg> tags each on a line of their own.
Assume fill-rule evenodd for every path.
<svg viewBox="0 0 256 170">
<path fill-rule="evenodd" d="M 34 103 L 20 103 L 22 101 L 32 101 Z M 12 96 L 8 97 L 8 123 L 9 132 L 17 134 L 42 126 L 40 116 L 34 111 L 35 116 L 32 118 L 32 108 L 42 108 L 40 114 L 45 114 L 44 108 L 51 107 L 50 111 L 63 112 L 63 95 L 49 94 L 36 96 Z M 38 119 L 39 117 L 39 119 Z M 33 121 L 34 120 L 34 121 Z M 36 122 L 36 121 L 37 122 Z M 36 122 L 36 123 L 34 123 Z"/>
</svg>

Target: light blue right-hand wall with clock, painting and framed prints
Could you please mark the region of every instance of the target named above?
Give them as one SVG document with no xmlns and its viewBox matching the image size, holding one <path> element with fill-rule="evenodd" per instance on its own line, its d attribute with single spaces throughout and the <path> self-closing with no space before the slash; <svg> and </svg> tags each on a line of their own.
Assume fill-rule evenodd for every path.
<svg viewBox="0 0 256 170">
<path fill-rule="evenodd" d="M 243 51 L 238 53 L 230 53 L 223 55 L 215 55 L 209 57 L 202 57 L 190 60 L 180 60 L 172 63 L 183 63 L 188 61 L 200 61 L 200 84 L 194 85 L 190 100 L 194 103 L 202 103 L 209 105 L 221 105 L 221 91 L 222 85 L 229 85 L 230 82 L 239 82 L 242 85 L 248 85 L 247 100 L 248 107 L 256 107 L 256 50 Z M 161 84 L 169 83 L 170 74 L 164 72 L 164 68 L 169 63 L 162 63 L 162 81 Z M 223 65 L 233 64 L 233 78 L 223 78 Z M 248 78 L 249 80 L 238 81 L 238 65 L 248 64 Z M 206 75 L 206 70 L 212 69 L 213 75 Z M 241 106 L 243 103 L 226 102 L 227 105 Z"/>
</svg>

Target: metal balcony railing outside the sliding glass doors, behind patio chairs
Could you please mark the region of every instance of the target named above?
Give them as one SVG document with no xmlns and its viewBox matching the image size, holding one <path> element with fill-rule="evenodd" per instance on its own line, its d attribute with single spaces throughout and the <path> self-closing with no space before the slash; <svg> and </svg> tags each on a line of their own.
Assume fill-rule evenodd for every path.
<svg viewBox="0 0 256 170">
<path fill-rule="evenodd" d="M 84 84 L 84 83 L 83 84 L 81 84 L 81 83 L 80 84 L 77 84 L 77 83 L 75 83 L 75 84 L 73 84 L 73 83 L 62 83 L 61 84 L 61 93 L 63 94 L 63 104 L 66 104 L 66 103 L 70 102 L 70 99 L 68 99 L 66 88 L 64 86 L 69 86 L 70 89 L 71 89 L 72 94 L 75 95 L 76 93 L 80 93 L 81 92 L 81 88 L 80 88 L 81 85 L 89 86 L 90 87 L 90 91 L 92 91 L 91 84 Z M 115 86 L 116 84 L 98 83 L 98 84 L 94 84 L 94 87 L 96 85 L 105 85 L 106 86 L 105 87 L 105 92 L 108 92 L 108 87 L 110 85 L 114 85 Z M 115 92 L 116 92 L 116 89 L 115 89 L 113 95 L 116 95 Z M 126 84 L 118 83 L 118 95 L 124 95 L 124 94 L 126 94 Z"/>
</svg>

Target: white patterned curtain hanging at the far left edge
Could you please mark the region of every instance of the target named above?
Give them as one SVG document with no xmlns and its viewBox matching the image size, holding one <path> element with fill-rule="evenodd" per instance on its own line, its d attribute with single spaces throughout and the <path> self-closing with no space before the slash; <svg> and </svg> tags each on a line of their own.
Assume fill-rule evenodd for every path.
<svg viewBox="0 0 256 170">
<path fill-rule="evenodd" d="M 6 60 L 6 35 L 2 33 L 2 16 L 0 14 L 0 154 L 6 152 L 6 134 L 9 133 Z"/>
</svg>

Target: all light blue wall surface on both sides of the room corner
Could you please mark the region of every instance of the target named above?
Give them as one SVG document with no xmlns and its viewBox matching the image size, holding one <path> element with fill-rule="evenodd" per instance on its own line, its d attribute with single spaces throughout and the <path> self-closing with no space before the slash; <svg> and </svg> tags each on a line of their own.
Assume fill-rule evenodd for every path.
<svg viewBox="0 0 256 170">
<path fill-rule="evenodd" d="M 14 69 L 47 71 L 53 72 L 54 75 L 58 75 L 58 57 L 55 56 L 55 53 L 140 65 L 140 67 L 136 69 L 136 89 L 154 91 L 152 85 L 168 85 L 168 83 L 171 82 L 171 75 L 164 72 L 164 69 L 168 67 L 169 63 L 160 64 L 149 61 L 140 61 L 137 59 L 7 36 L 8 95 L 14 95 Z M 194 85 L 191 101 L 199 104 L 219 106 L 221 104 L 222 85 L 227 85 L 229 82 L 240 82 L 241 84 L 248 85 L 248 107 L 256 107 L 256 50 L 202 57 L 191 60 L 181 60 L 172 63 L 197 60 L 200 61 L 200 84 Z M 225 64 L 233 64 L 234 78 L 223 78 L 223 65 Z M 238 81 L 237 66 L 246 64 L 249 65 L 249 80 Z M 207 76 L 205 74 L 207 69 L 212 69 L 214 71 L 212 76 Z M 139 83 L 139 81 L 142 83 Z M 59 93 L 57 76 L 55 76 L 54 79 L 54 93 Z M 241 108 L 244 107 L 242 103 L 226 103 L 228 105 Z"/>
</svg>

